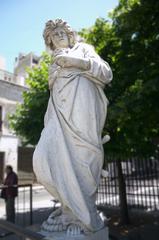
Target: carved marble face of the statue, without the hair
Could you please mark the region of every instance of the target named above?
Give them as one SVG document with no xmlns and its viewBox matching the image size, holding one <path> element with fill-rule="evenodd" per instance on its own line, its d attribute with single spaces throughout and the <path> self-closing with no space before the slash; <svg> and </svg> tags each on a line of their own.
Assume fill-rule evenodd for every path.
<svg viewBox="0 0 159 240">
<path fill-rule="evenodd" d="M 55 28 L 51 38 L 55 48 L 67 48 L 69 46 L 69 39 L 63 28 Z"/>
</svg>

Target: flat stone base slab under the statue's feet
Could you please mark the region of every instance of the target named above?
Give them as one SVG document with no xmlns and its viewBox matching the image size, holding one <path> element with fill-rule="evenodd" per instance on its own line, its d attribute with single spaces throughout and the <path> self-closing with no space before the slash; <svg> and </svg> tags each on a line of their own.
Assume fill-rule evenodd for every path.
<svg viewBox="0 0 159 240">
<path fill-rule="evenodd" d="M 98 232 L 80 235 L 67 235 L 66 232 L 46 232 L 40 231 L 45 240 L 109 240 L 108 227 L 104 227 Z"/>
</svg>

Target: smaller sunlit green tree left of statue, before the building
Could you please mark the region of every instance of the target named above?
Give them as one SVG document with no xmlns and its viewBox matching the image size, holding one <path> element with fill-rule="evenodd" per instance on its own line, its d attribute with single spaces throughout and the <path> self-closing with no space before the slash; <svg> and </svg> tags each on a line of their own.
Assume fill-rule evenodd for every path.
<svg viewBox="0 0 159 240">
<path fill-rule="evenodd" d="M 19 104 L 16 112 L 9 117 L 12 129 L 22 138 L 24 144 L 35 145 L 43 128 L 49 98 L 49 64 L 50 57 L 44 53 L 40 64 L 27 70 L 26 82 L 29 89 L 23 93 L 23 103 Z"/>
</svg>

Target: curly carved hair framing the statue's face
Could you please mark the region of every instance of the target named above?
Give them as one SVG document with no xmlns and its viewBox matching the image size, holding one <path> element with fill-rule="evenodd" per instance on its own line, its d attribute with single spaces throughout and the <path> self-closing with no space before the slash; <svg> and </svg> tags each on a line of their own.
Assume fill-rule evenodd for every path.
<svg viewBox="0 0 159 240">
<path fill-rule="evenodd" d="M 62 19 L 56 19 L 56 20 L 49 20 L 44 29 L 43 37 L 45 40 L 45 44 L 47 47 L 49 47 L 51 50 L 55 50 L 54 43 L 51 39 L 51 34 L 57 27 L 63 28 L 66 32 L 70 47 L 73 47 L 76 42 L 75 32 L 71 29 L 71 27 Z"/>
</svg>

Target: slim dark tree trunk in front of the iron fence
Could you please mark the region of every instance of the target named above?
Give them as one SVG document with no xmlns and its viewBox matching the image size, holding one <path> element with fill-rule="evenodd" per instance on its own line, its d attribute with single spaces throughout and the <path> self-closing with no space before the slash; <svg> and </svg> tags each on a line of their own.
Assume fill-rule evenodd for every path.
<svg viewBox="0 0 159 240">
<path fill-rule="evenodd" d="M 121 160 L 117 159 L 118 182 L 119 182 L 119 202 L 120 202 L 120 220 L 121 224 L 129 224 L 129 213 L 126 198 L 126 184 L 122 172 Z"/>
</svg>

